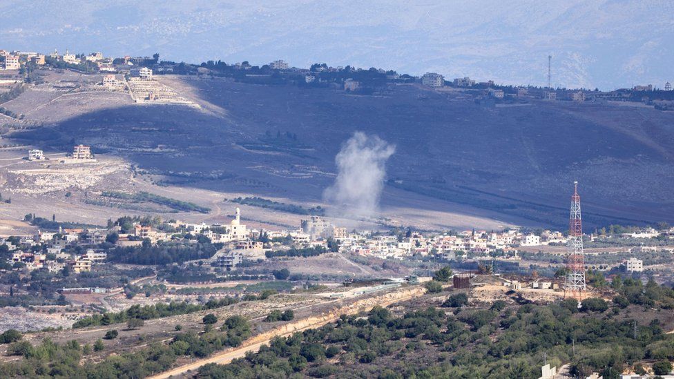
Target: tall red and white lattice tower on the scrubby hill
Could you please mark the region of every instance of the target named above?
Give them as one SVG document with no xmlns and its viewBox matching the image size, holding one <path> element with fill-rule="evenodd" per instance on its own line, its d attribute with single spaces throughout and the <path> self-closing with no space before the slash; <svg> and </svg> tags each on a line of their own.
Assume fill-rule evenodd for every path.
<svg viewBox="0 0 674 379">
<path fill-rule="evenodd" d="M 573 182 L 564 297 L 581 300 L 581 293 L 585 290 L 585 260 L 583 255 L 583 227 L 580 217 L 580 196 L 578 195 L 578 182 Z"/>
</svg>

